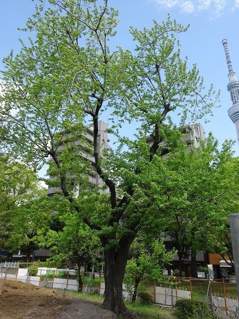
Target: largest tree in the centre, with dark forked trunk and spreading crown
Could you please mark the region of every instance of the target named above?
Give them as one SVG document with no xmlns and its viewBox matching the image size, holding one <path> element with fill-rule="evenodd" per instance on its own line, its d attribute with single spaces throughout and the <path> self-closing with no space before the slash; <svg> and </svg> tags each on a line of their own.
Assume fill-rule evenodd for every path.
<svg viewBox="0 0 239 319">
<path fill-rule="evenodd" d="M 180 125 L 198 120 L 212 113 L 217 95 L 212 87 L 204 90 L 196 65 L 190 69 L 181 58 L 178 38 L 187 27 L 169 17 L 162 24 L 153 21 L 151 29 L 131 28 L 134 52 L 115 45 L 112 50 L 118 12 L 107 0 L 48 0 L 49 9 L 46 1 L 38 2 L 25 29 L 33 39 L 4 59 L 1 146 L 38 167 L 51 159 L 50 174 L 58 176 L 62 195 L 104 249 L 103 307 L 130 318 L 122 299 L 128 249 L 149 219 L 151 203 L 165 193 L 164 186 L 152 187 L 169 178 L 162 156 L 177 157 L 183 147 L 170 114 L 177 114 Z M 119 148 L 102 157 L 98 122 L 103 117 Z M 127 123 L 135 128 L 134 137 L 124 136 Z M 93 143 L 87 139 L 88 124 Z M 94 166 L 81 157 L 86 151 L 92 152 Z M 94 172 L 108 195 L 89 187 Z M 159 205 L 156 217 L 163 213 Z"/>
</svg>

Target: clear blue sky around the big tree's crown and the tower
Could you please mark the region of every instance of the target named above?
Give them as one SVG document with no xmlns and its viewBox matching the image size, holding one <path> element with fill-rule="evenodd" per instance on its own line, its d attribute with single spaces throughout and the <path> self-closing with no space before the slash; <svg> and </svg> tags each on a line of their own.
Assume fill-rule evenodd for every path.
<svg viewBox="0 0 239 319">
<path fill-rule="evenodd" d="M 24 27 L 27 17 L 34 13 L 37 0 L 2 0 L 0 10 L 0 69 L 1 60 L 11 49 L 20 49 L 18 38 L 28 34 L 18 31 Z M 228 68 L 222 40 L 228 40 L 233 69 L 239 79 L 239 0 L 109 0 L 109 5 L 119 9 L 118 44 L 133 49 L 132 25 L 138 29 L 150 28 L 152 20 L 166 21 L 169 13 L 172 19 L 183 25 L 190 24 L 189 30 L 180 34 L 182 56 L 188 56 L 190 64 L 197 63 L 204 76 L 206 87 L 213 83 L 216 91 L 221 90 L 221 108 L 215 108 L 210 123 L 203 125 L 206 136 L 212 132 L 222 144 L 225 139 L 237 139 L 236 128 L 228 117 L 232 105 L 227 91 Z M 239 156 L 238 144 L 234 147 Z"/>
</svg>

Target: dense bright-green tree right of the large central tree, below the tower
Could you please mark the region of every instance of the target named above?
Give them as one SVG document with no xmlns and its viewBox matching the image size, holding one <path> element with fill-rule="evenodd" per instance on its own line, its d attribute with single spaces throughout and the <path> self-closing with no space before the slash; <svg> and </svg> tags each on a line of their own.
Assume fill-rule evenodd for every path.
<svg viewBox="0 0 239 319">
<path fill-rule="evenodd" d="M 180 272 L 188 250 L 191 260 L 196 261 L 197 251 L 221 246 L 221 240 L 216 238 L 223 234 L 229 212 L 238 211 L 239 202 L 233 200 L 238 189 L 238 167 L 226 168 L 232 166 L 232 160 L 231 143 L 225 143 L 219 151 L 218 142 L 211 135 L 201 141 L 199 148 L 191 147 L 190 152 L 182 150 L 177 158 L 169 155 L 166 159 L 171 172 L 170 178 L 163 181 L 164 202 L 162 198 L 155 202 L 155 210 L 163 205 L 165 214 L 161 219 L 152 215 L 147 227 L 159 223 L 158 229 L 173 239 Z M 196 278 L 196 263 L 191 266 L 191 276 Z"/>
</svg>

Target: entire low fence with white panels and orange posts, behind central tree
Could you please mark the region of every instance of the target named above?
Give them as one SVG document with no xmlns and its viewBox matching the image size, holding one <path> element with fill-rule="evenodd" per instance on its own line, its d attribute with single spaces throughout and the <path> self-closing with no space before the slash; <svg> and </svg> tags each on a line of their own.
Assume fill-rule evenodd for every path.
<svg viewBox="0 0 239 319">
<path fill-rule="evenodd" d="M 19 280 L 36 286 L 62 290 L 78 291 L 78 280 L 75 269 L 19 268 L 18 264 L 0 264 L 0 282 L 2 279 Z M 82 291 L 104 295 L 104 274 L 82 273 Z M 1 288 L 1 287 L 0 287 Z M 123 298 L 130 300 L 133 287 L 123 284 Z M 208 280 L 201 278 L 173 277 L 167 283 L 155 283 L 142 281 L 138 291 L 146 292 L 153 297 L 156 304 L 163 308 L 173 308 L 179 299 L 192 299 L 207 304 L 209 309 L 218 318 L 235 318 L 236 308 L 239 305 L 237 298 L 237 286 L 230 280 Z"/>
</svg>

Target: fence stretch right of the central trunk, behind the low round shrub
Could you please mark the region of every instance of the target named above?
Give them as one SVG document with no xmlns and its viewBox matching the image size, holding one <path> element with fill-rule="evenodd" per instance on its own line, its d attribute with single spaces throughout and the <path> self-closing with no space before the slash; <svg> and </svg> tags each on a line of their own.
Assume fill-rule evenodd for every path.
<svg viewBox="0 0 239 319">
<path fill-rule="evenodd" d="M 141 282 L 138 290 L 150 294 L 154 302 L 164 308 L 173 307 L 179 299 L 203 302 L 217 318 L 222 319 L 235 318 L 239 306 L 235 280 L 173 277 L 171 282 L 164 284 Z"/>
</svg>

